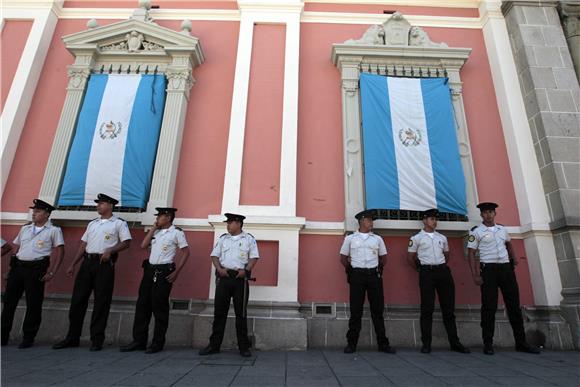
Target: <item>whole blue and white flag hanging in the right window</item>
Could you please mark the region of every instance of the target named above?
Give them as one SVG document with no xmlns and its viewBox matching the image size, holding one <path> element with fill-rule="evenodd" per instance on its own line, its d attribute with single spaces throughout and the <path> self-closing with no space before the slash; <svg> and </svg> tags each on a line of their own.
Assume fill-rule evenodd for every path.
<svg viewBox="0 0 580 387">
<path fill-rule="evenodd" d="M 360 77 L 366 208 L 467 214 L 447 78 Z"/>
</svg>

